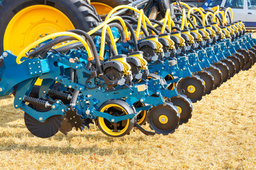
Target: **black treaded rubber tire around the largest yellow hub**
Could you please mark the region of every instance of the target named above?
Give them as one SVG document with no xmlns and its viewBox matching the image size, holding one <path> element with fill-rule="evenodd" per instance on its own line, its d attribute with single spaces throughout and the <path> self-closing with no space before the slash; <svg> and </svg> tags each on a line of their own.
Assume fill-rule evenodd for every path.
<svg viewBox="0 0 256 170">
<path fill-rule="evenodd" d="M 0 53 L 4 50 L 4 33 L 11 18 L 23 8 L 33 5 L 47 5 L 62 11 L 73 23 L 75 28 L 89 31 L 101 21 L 95 8 L 87 1 L 82 0 L 4 0 L 0 10 Z M 54 17 L 54 16 L 53 16 Z"/>
</svg>

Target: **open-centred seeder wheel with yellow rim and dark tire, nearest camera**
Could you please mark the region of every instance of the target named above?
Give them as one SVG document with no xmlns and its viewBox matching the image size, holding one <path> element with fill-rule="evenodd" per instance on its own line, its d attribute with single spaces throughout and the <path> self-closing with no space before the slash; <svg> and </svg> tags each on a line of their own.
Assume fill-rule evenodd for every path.
<svg viewBox="0 0 256 170">
<path fill-rule="evenodd" d="M 114 116 L 129 115 L 134 113 L 132 108 L 125 101 L 121 100 L 106 101 L 102 104 L 102 106 L 100 106 L 99 111 L 109 113 L 110 115 Z M 110 137 L 122 137 L 127 135 L 127 133 L 129 133 L 134 127 L 134 123 L 134 118 L 122 120 L 117 123 L 111 123 L 105 118 L 97 118 L 97 125 L 100 130 L 105 135 Z"/>
</svg>

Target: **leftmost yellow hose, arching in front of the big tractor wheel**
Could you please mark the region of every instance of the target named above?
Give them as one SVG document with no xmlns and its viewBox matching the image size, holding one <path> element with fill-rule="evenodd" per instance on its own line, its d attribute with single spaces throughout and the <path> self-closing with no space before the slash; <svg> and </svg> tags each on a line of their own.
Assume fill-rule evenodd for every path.
<svg viewBox="0 0 256 170">
<path fill-rule="evenodd" d="M 49 40 L 49 39 L 52 39 L 52 38 L 56 38 L 56 37 L 60 37 L 60 36 L 70 36 L 70 37 L 73 37 L 73 38 L 76 38 L 78 39 L 80 42 L 82 42 L 82 45 L 84 45 L 87 53 L 88 53 L 88 60 L 93 60 L 93 57 L 92 57 L 92 52 L 90 51 L 90 48 L 89 46 L 87 45 L 87 42 L 78 34 L 75 34 L 75 33 L 70 33 L 70 32 L 60 32 L 60 33 L 53 33 L 53 34 L 50 34 L 50 35 L 47 35 L 46 37 L 43 37 L 39 40 L 36 40 L 35 42 L 31 43 L 30 45 L 28 45 L 28 47 L 26 47 L 25 49 L 23 49 L 17 56 L 16 58 L 16 62 L 17 64 L 21 64 L 21 58 L 22 57 L 26 57 L 26 52 L 28 52 L 28 50 L 31 50 L 31 48 L 34 48 L 36 47 L 37 45 L 39 45 L 40 43 L 46 41 L 46 40 Z"/>
</svg>

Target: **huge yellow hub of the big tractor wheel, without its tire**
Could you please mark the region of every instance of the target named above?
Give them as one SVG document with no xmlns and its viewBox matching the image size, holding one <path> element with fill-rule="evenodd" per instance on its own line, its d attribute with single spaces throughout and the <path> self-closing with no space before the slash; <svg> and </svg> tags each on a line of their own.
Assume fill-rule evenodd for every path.
<svg viewBox="0 0 256 170">
<path fill-rule="evenodd" d="M 23 8 L 11 19 L 4 33 L 4 50 L 18 55 L 32 42 L 51 33 L 74 29 L 64 13 L 46 5 Z"/>
</svg>

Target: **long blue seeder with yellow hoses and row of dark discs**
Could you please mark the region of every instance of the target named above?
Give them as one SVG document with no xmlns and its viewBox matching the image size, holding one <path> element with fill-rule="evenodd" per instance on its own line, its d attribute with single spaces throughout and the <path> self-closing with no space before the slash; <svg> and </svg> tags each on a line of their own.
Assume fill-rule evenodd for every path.
<svg viewBox="0 0 256 170">
<path fill-rule="evenodd" d="M 191 118 L 191 101 L 250 69 L 256 50 L 242 22 L 232 23 L 230 8 L 175 5 L 175 17 L 167 9 L 161 20 L 117 6 L 88 32 L 46 35 L 17 56 L 4 51 L 0 96 L 14 94 L 14 107 L 37 137 L 90 123 L 111 137 L 133 128 L 173 133 Z M 114 16 L 127 9 L 133 17 Z"/>
</svg>

